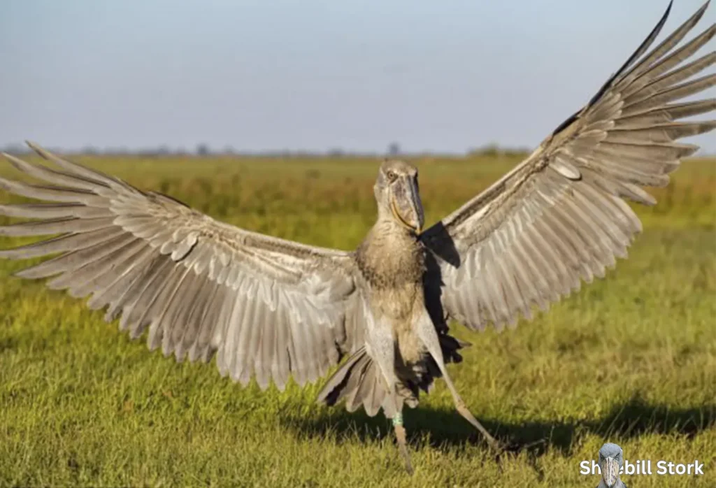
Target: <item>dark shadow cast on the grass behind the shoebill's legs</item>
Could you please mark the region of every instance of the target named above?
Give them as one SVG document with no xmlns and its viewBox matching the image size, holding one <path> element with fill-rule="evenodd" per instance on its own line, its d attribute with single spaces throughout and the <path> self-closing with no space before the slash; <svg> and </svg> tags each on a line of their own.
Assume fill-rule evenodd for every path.
<svg viewBox="0 0 716 488">
<path fill-rule="evenodd" d="M 437 448 L 454 448 L 465 444 L 480 444 L 483 439 L 456 411 L 430 407 L 405 409 L 405 427 L 412 444 L 419 439 Z M 333 435 L 337 441 L 355 439 L 383 439 L 392 435 L 392 426 L 378 414 L 367 416 L 363 411 L 350 414 L 336 407 L 329 414 L 313 419 L 290 416 L 282 420 L 286 427 L 301 436 Z M 625 404 L 596 421 L 544 421 L 505 424 L 498 420 L 480 419 L 480 423 L 495 437 L 508 444 L 508 451 L 526 451 L 541 456 L 548 450 L 571 455 L 575 441 L 584 434 L 596 434 L 604 439 L 629 439 L 643 434 L 681 434 L 692 437 L 716 425 L 716 406 L 704 405 L 691 409 L 672 409 L 652 405 L 635 396 Z"/>
</svg>

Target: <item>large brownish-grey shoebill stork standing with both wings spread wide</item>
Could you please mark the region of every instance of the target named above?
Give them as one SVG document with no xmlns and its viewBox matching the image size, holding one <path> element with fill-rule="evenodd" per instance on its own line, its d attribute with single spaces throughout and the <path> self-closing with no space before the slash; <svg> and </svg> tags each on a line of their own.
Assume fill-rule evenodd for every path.
<svg viewBox="0 0 716 488">
<path fill-rule="evenodd" d="M 282 389 L 289 376 L 303 385 L 339 364 L 319 401 L 371 416 L 382 409 L 409 471 L 402 409 L 437 377 L 497 445 L 445 368 L 466 345 L 450 336 L 448 318 L 473 331 L 513 326 L 627 256 L 642 225 L 624 199 L 654 205 L 642 187 L 667 185 L 680 158 L 697 150 L 676 141 L 716 127 L 679 121 L 716 108 L 715 99 L 682 101 L 716 84 L 713 74 L 691 79 L 716 60 L 714 52 L 691 60 L 716 26 L 681 43 L 704 5 L 649 51 L 669 9 L 589 103 L 427 230 L 417 169 L 403 161 L 379 167 L 375 224 L 344 251 L 226 225 L 30 143 L 48 164 L 5 157 L 41 183 L 2 179 L 0 187 L 46 202 L 2 205 L 2 215 L 34 220 L 0 234 L 61 235 L 0 257 L 56 255 L 16 274 L 89 296 L 89 308 L 121 317 L 132 338 L 148 328 L 149 348 L 178 361 L 216 353 L 221 374 L 243 385 L 253 377 Z"/>
</svg>

